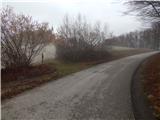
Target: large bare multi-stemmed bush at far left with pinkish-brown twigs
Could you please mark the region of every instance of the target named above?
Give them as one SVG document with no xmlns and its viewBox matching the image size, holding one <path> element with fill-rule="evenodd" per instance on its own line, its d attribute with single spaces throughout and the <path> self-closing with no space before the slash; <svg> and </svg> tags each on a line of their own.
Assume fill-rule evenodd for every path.
<svg viewBox="0 0 160 120">
<path fill-rule="evenodd" d="M 30 65 L 52 38 L 47 23 L 39 24 L 30 16 L 15 14 L 10 7 L 2 10 L 1 23 L 2 64 L 6 68 Z"/>
</svg>

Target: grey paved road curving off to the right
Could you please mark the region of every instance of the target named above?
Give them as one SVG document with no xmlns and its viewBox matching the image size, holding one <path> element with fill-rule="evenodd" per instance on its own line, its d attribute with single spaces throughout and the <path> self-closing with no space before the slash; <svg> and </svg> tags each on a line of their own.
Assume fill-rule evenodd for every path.
<svg viewBox="0 0 160 120">
<path fill-rule="evenodd" d="M 130 84 L 154 53 L 97 65 L 2 103 L 2 120 L 134 120 Z"/>
</svg>

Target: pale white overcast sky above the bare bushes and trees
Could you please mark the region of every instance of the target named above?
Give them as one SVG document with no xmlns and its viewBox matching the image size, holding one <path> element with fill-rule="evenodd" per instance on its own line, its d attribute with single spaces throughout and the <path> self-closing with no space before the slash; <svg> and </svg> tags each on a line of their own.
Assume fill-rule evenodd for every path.
<svg viewBox="0 0 160 120">
<path fill-rule="evenodd" d="M 143 28 L 134 16 L 123 15 L 127 6 L 120 0 L 3 0 L 2 6 L 6 5 L 13 7 L 17 13 L 49 22 L 55 29 L 62 23 L 65 14 L 74 17 L 79 13 L 88 22 L 107 23 L 109 31 L 115 35 Z"/>
</svg>

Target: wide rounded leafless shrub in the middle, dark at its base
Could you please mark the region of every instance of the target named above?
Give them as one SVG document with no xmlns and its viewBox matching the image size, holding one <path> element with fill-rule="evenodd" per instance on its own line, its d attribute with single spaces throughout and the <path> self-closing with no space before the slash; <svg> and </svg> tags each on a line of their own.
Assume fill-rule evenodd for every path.
<svg viewBox="0 0 160 120">
<path fill-rule="evenodd" d="M 56 55 L 60 59 L 69 61 L 93 60 L 105 57 L 107 53 L 102 49 L 105 34 L 101 30 L 100 23 L 93 26 L 87 23 L 81 15 L 73 20 L 65 16 L 63 24 L 58 29 Z"/>
</svg>

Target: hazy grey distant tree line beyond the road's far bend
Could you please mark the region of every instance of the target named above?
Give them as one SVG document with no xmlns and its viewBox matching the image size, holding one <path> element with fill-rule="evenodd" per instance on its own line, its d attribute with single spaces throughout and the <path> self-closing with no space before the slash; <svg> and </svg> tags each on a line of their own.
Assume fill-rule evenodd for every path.
<svg viewBox="0 0 160 120">
<path fill-rule="evenodd" d="M 135 31 L 105 40 L 107 45 L 127 46 L 132 48 L 160 49 L 160 23 L 154 23 L 152 28 Z"/>
</svg>

